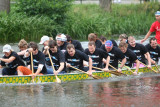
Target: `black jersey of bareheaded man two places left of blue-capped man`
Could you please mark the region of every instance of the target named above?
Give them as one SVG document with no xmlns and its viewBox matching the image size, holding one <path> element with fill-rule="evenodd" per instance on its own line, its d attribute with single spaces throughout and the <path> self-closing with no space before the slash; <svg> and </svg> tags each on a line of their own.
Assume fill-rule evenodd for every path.
<svg viewBox="0 0 160 107">
<path fill-rule="evenodd" d="M 71 66 L 84 70 L 83 69 L 83 60 L 85 61 L 89 61 L 89 56 L 86 55 L 85 53 L 79 51 L 79 50 L 75 50 L 75 54 L 74 56 L 70 56 L 68 54 L 68 52 L 65 52 L 65 60 L 67 63 L 69 63 Z M 70 70 L 73 70 L 71 68 L 69 68 Z"/>
</svg>

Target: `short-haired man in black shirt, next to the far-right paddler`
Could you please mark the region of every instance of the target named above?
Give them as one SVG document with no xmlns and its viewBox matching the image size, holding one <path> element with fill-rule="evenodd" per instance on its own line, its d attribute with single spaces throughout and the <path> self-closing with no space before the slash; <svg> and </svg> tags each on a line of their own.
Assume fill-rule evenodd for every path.
<svg viewBox="0 0 160 107">
<path fill-rule="evenodd" d="M 137 59 L 146 64 L 145 63 L 145 57 L 147 58 L 148 61 L 148 67 L 151 68 L 151 60 L 150 60 L 150 54 L 147 52 L 147 49 L 145 46 L 143 46 L 142 44 L 136 43 L 135 42 L 135 38 L 133 36 L 130 36 L 128 38 L 128 48 L 131 49 L 137 56 Z M 144 67 L 143 64 L 140 64 L 140 67 Z"/>
</svg>

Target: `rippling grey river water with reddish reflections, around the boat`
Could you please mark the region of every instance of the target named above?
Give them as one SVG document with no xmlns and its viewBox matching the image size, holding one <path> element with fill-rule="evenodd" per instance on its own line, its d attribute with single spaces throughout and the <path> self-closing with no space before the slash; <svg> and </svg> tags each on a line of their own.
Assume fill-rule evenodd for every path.
<svg viewBox="0 0 160 107">
<path fill-rule="evenodd" d="M 11 45 L 18 51 L 17 44 Z M 159 93 L 160 74 L 154 73 L 61 84 L 0 84 L 0 106 L 159 107 Z"/>
</svg>

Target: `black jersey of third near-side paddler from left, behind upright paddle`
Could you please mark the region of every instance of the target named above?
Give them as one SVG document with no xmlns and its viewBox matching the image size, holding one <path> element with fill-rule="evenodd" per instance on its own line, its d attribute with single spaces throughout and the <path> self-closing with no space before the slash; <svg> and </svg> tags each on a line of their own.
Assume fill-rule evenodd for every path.
<svg viewBox="0 0 160 107">
<path fill-rule="evenodd" d="M 58 49 L 56 53 L 52 53 L 52 51 L 49 51 L 49 53 L 50 53 L 55 70 L 58 70 L 60 67 L 60 63 L 65 62 L 65 57 L 64 57 L 63 52 Z M 49 56 L 45 55 L 45 57 L 46 57 L 45 58 L 46 64 L 48 66 L 52 66 Z"/>
</svg>

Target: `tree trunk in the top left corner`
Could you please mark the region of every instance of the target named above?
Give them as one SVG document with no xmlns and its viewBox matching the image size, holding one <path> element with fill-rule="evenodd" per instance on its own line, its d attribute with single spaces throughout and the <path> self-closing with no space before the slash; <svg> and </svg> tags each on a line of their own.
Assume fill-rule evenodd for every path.
<svg viewBox="0 0 160 107">
<path fill-rule="evenodd" d="M 0 0 L 0 12 L 1 11 L 10 12 L 10 0 Z"/>
</svg>

